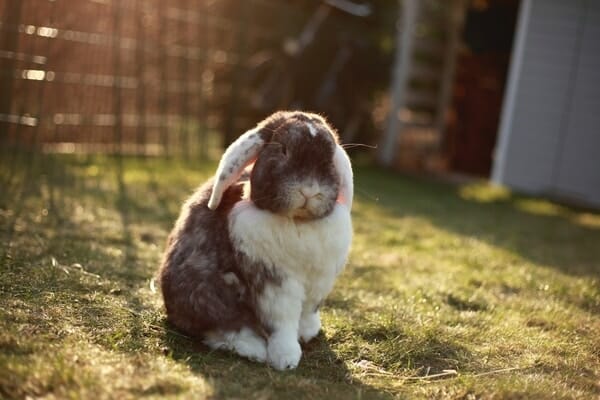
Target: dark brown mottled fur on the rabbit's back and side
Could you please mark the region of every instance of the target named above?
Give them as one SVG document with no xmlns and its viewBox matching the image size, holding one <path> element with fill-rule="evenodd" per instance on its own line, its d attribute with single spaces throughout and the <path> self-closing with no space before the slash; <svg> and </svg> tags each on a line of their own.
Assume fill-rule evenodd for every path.
<svg viewBox="0 0 600 400">
<path fill-rule="evenodd" d="M 258 324 L 228 231 L 228 213 L 241 200 L 242 188 L 229 188 L 218 212 L 206 206 L 211 192 L 209 181 L 184 204 L 160 271 L 169 320 L 196 337 Z M 259 272 L 252 271 L 253 277 Z"/>
</svg>

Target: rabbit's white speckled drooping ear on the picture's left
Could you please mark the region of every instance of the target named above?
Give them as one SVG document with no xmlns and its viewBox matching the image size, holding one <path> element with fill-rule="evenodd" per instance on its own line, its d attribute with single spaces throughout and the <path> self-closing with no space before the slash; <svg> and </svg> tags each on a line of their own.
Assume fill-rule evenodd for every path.
<svg viewBox="0 0 600 400">
<path fill-rule="evenodd" d="M 208 208 L 211 210 L 217 209 L 225 190 L 237 182 L 244 168 L 256 160 L 264 144 L 265 141 L 260 135 L 260 129 L 257 127 L 247 131 L 229 145 L 223 157 L 221 157 L 221 161 L 219 161 Z"/>
</svg>

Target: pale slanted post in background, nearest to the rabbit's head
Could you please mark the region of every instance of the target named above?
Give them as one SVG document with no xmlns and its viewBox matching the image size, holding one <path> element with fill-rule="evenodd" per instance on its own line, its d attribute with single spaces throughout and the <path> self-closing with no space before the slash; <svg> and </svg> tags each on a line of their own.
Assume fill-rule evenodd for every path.
<svg viewBox="0 0 600 400">
<path fill-rule="evenodd" d="M 398 139 L 402 129 L 400 110 L 404 105 L 408 86 L 415 28 L 419 14 L 419 0 L 403 0 L 399 3 L 399 21 L 401 26 L 396 36 L 396 56 L 392 78 L 392 104 L 387 128 L 379 144 L 378 153 L 378 161 L 388 167 L 393 164 L 396 152 L 398 151 Z"/>
</svg>

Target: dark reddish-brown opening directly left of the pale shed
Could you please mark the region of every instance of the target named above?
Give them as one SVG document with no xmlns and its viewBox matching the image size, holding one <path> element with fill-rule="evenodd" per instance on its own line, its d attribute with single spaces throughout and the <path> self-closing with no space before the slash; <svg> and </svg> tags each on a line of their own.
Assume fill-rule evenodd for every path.
<svg viewBox="0 0 600 400">
<path fill-rule="evenodd" d="M 519 3 L 470 3 L 446 127 L 451 170 L 490 174 Z"/>
</svg>

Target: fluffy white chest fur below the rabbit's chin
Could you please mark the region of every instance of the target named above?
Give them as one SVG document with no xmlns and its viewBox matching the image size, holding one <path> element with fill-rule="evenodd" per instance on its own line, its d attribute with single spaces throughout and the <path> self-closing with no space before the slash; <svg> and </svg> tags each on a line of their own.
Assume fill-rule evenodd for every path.
<svg viewBox="0 0 600 400">
<path fill-rule="evenodd" d="M 296 223 L 245 200 L 231 211 L 229 227 L 234 247 L 298 282 L 307 305 L 318 304 L 331 291 L 352 241 L 350 211 L 342 204 L 327 217 Z"/>
</svg>

